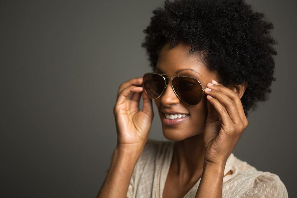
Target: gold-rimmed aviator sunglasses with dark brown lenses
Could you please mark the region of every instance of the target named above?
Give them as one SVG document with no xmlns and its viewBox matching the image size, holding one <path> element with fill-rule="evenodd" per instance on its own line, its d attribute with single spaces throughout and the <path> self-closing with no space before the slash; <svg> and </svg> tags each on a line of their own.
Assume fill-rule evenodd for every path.
<svg viewBox="0 0 297 198">
<path fill-rule="evenodd" d="M 143 75 L 143 89 L 151 99 L 158 99 L 168 86 L 166 80 L 168 78 L 171 80 L 174 93 L 182 102 L 194 106 L 201 101 L 205 89 L 202 89 L 202 85 L 197 79 L 189 76 L 146 73 Z"/>
</svg>

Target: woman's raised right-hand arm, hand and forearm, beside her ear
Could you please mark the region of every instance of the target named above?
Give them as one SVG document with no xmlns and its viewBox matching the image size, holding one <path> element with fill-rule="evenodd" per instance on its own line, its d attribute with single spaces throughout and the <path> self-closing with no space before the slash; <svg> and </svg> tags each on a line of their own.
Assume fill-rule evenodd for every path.
<svg viewBox="0 0 297 198">
<path fill-rule="evenodd" d="M 222 197 L 226 161 L 248 125 L 240 100 L 246 86 L 247 82 L 228 88 L 214 80 L 207 83 L 206 151 L 196 197 Z"/>
</svg>

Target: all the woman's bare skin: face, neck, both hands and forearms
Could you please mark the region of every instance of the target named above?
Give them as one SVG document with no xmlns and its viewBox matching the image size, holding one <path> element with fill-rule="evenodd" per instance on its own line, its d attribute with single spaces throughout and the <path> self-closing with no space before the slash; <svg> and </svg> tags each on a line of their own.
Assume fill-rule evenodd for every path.
<svg viewBox="0 0 297 198">
<path fill-rule="evenodd" d="M 196 70 L 200 75 L 191 70 L 179 75 L 194 77 L 202 88 L 212 89 L 203 93 L 199 104 L 189 106 L 178 99 L 169 81 L 165 92 L 154 100 L 161 119 L 162 110 L 189 114 L 176 126 L 162 123 L 164 136 L 175 142 L 163 197 L 184 197 L 200 177 L 196 197 L 222 197 L 226 161 L 248 124 L 240 100 L 247 82 L 228 87 L 217 83 L 218 74 L 207 69 L 199 53 L 189 53 L 190 47 L 184 41 L 173 48 L 166 43 L 157 61 L 157 71 L 167 75 L 175 75 L 180 69 Z M 118 141 L 98 197 L 127 195 L 135 164 L 148 140 L 154 112 L 152 100 L 138 87 L 142 81 L 142 77 L 134 78 L 119 86 L 113 109 Z M 142 110 L 139 109 L 141 95 Z"/>
</svg>

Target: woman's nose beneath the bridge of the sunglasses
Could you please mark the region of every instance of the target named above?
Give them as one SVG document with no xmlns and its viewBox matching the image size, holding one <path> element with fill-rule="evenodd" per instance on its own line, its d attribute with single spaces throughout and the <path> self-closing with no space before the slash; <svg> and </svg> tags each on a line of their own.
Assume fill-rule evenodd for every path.
<svg viewBox="0 0 297 198">
<path fill-rule="evenodd" d="M 180 103 L 179 98 L 176 96 L 175 92 L 173 91 L 172 88 L 172 82 L 170 78 L 166 78 L 168 84 L 165 90 L 162 93 L 161 96 L 161 103 L 165 106 L 168 107 L 170 104 L 178 104 Z"/>
</svg>

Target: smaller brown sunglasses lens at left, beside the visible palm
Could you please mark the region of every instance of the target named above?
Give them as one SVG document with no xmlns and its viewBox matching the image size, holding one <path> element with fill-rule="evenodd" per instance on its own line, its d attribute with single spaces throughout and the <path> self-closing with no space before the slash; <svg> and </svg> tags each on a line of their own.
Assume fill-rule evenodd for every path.
<svg viewBox="0 0 297 198">
<path fill-rule="evenodd" d="M 165 80 L 162 76 L 157 74 L 145 74 L 143 76 L 143 88 L 150 98 L 156 99 L 159 97 L 164 87 Z"/>
</svg>

